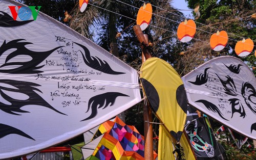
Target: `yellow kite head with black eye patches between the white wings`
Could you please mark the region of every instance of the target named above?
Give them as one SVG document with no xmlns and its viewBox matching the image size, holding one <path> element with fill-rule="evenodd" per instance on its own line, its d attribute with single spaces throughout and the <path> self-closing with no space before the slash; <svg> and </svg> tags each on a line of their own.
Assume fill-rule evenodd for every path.
<svg viewBox="0 0 256 160">
<path fill-rule="evenodd" d="M 179 141 L 187 113 L 186 93 L 179 74 L 167 62 L 150 58 L 140 68 L 140 80 L 153 111 Z"/>
</svg>

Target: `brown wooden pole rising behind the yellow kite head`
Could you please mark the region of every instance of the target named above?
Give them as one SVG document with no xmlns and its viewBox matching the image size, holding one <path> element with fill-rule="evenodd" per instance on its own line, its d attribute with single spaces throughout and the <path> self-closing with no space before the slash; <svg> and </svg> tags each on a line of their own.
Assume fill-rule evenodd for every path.
<svg viewBox="0 0 256 160">
<path fill-rule="evenodd" d="M 147 51 L 146 46 L 148 46 L 148 36 L 143 35 L 140 26 L 135 25 L 133 26 L 133 30 L 139 42 L 142 44 L 140 45 L 142 49 L 142 63 L 151 58 L 150 53 Z M 145 160 L 153 160 L 153 126 L 152 123 L 152 110 L 150 105 L 143 104 L 143 120 L 144 120 L 144 136 L 145 136 L 145 148 L 144 148 L 144 159 Z"/>
</svg>

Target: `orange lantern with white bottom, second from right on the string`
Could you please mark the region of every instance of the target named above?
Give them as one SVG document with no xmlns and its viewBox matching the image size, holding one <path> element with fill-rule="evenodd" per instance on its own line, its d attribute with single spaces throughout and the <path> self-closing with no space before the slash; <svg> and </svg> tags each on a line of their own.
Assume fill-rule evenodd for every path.
<svg viewBox="0 0 256 160">
<path fill-rule="evenodd" d="M 226 31 L 217 31 L 210 36 L 210 47 L 215 51 L 222 50 L 227 45 L 228 35 Z"/>
</svg>

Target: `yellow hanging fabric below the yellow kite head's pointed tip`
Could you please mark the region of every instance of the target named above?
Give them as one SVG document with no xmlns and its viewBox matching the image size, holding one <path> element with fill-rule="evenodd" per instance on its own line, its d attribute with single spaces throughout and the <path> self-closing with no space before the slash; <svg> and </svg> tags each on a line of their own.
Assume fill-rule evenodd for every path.
<svg viewBox="0 0 256 160">
<path fill-rule="evenodd" d="M 184 149 L 182 151 L 184 154 L 182 157 L 183 159 L 196 159 L 184 134 L 182 134 L 179 144 Z M 170 137 L 169 132 L 165 129 L 164 126 L 159 125 L 158 159 L 177 159 L 177 153 L 173 154 L 175 149 L 175 145 L 172 142 L 172 137 Z"/>
</svg>

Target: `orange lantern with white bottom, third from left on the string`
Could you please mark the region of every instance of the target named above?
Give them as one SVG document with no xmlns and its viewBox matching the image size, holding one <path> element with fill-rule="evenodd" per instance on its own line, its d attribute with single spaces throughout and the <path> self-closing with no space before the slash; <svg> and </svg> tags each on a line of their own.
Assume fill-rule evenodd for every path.
<svg viewBox="0 0 256 160">
<path fill-rule="evenodd" d="M 194 20 L 189 19 L 181 22 L 178 26 L 177 36 L 181 42 L 188 42 L 196 34 L 196 23 Z"/>
</svg>

